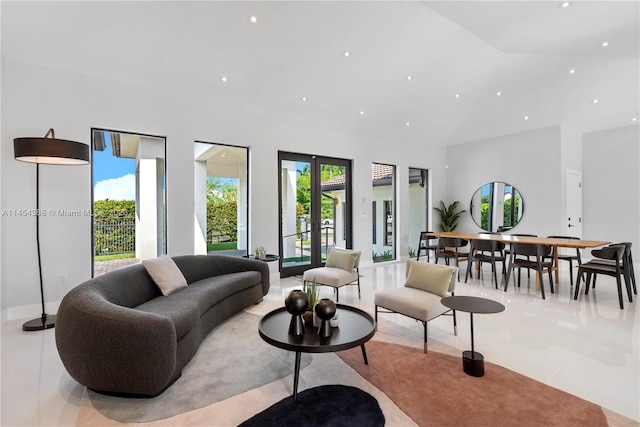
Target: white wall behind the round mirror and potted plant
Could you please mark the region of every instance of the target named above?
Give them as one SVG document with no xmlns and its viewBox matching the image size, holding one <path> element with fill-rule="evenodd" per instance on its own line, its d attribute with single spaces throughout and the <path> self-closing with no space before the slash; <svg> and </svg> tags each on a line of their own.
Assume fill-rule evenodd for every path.
<svg viewBox="0 0 640 427">
<path fill-rule="evenodd" d="M 483 184 L 503 181 L 515 186 L 524 200 L 522 220 L 508 234 L 562 234 L 561 144 L 560 127 L 555 126 L 449 146 L 443 200 L 458 200 L 467 211 L 457 230 L 480 231 L 469 214 L 471 198 Z"/>
</svg>

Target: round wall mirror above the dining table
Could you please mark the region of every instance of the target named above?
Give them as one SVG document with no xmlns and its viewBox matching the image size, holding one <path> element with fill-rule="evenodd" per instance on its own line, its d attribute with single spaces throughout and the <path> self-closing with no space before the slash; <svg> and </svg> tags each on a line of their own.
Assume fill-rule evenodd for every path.
<svg viewBox="0 0 640 427">
<path fill-rule="evenodd" d="M 493 195 L 496 194 L 502 194 L 503 197 L 493 197 Z M 482 225 L 483 197 L 488 197 L 489 201 L 494 202 L 487 203 L 489 209 L 487 215 L 487 226 Z M 500 206 L 497 209 L 501 209 L 502 212 L 504 212 L 504 203 L 507 199 L 519 200 L 519 203 L 515 205 L 510 204 L 512 209 L 510 210 L 508 216 L 504 214 L 501 217 L 498 215 L 494 215 L 493 206 L 495 206 L 495 202 L 497 201 Z M 479 211 L 474 207 L 475 205 L 480 206 Z M 473 222 L 475 222 L 476 225 L 484 231 L 493 233 L 508 231 L 522 222 L 522 218 L 524 216 L 524 198 L 522 197 L 522 193 L 520 192 L 520 190 L 509 183 L 503 181 L 488 182 L 478 188 L 471 196 L 469 213 L 471 215 L 471 218 L 473 219 Z M 517 217 L 515 217 L 516 215 Z"/>
</svg>

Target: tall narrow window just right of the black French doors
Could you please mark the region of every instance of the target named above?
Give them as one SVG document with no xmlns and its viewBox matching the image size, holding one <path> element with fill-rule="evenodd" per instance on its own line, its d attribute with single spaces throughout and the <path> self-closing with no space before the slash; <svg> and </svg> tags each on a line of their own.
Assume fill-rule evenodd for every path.
<svg viewBox="0 0 640 427">
<path fill-rule="evenodd" d="M 395 208 L 395 166 L 381 163 L 371 165 L 373 186 L 373 261 L 395 259 L 396 208 Z"/>
</svg>

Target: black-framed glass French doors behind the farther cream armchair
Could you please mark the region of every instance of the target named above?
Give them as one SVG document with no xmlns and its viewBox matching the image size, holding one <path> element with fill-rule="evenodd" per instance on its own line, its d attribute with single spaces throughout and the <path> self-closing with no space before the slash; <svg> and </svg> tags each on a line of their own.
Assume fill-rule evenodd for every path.
<svg viewBox="0 0 640 427">
<path fill-rule="evenodd" d="M 351 248 L 351 161 L 278 153 L 280 277 L 323 265 Z"/>
</svg>

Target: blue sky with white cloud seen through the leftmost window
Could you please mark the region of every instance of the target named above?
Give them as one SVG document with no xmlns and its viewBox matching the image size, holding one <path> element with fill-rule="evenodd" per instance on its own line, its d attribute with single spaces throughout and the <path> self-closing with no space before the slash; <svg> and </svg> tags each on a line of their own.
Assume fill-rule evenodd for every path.
<svg viewBox="0 0 640 427">
<path fill-rule="evenodd" d="M 104 151 L 93 152 L 94 200 L 135 200 L 136 160 L 115 157 L 111 153 L 111 140 L 105 132 Z"/>
</svg>

